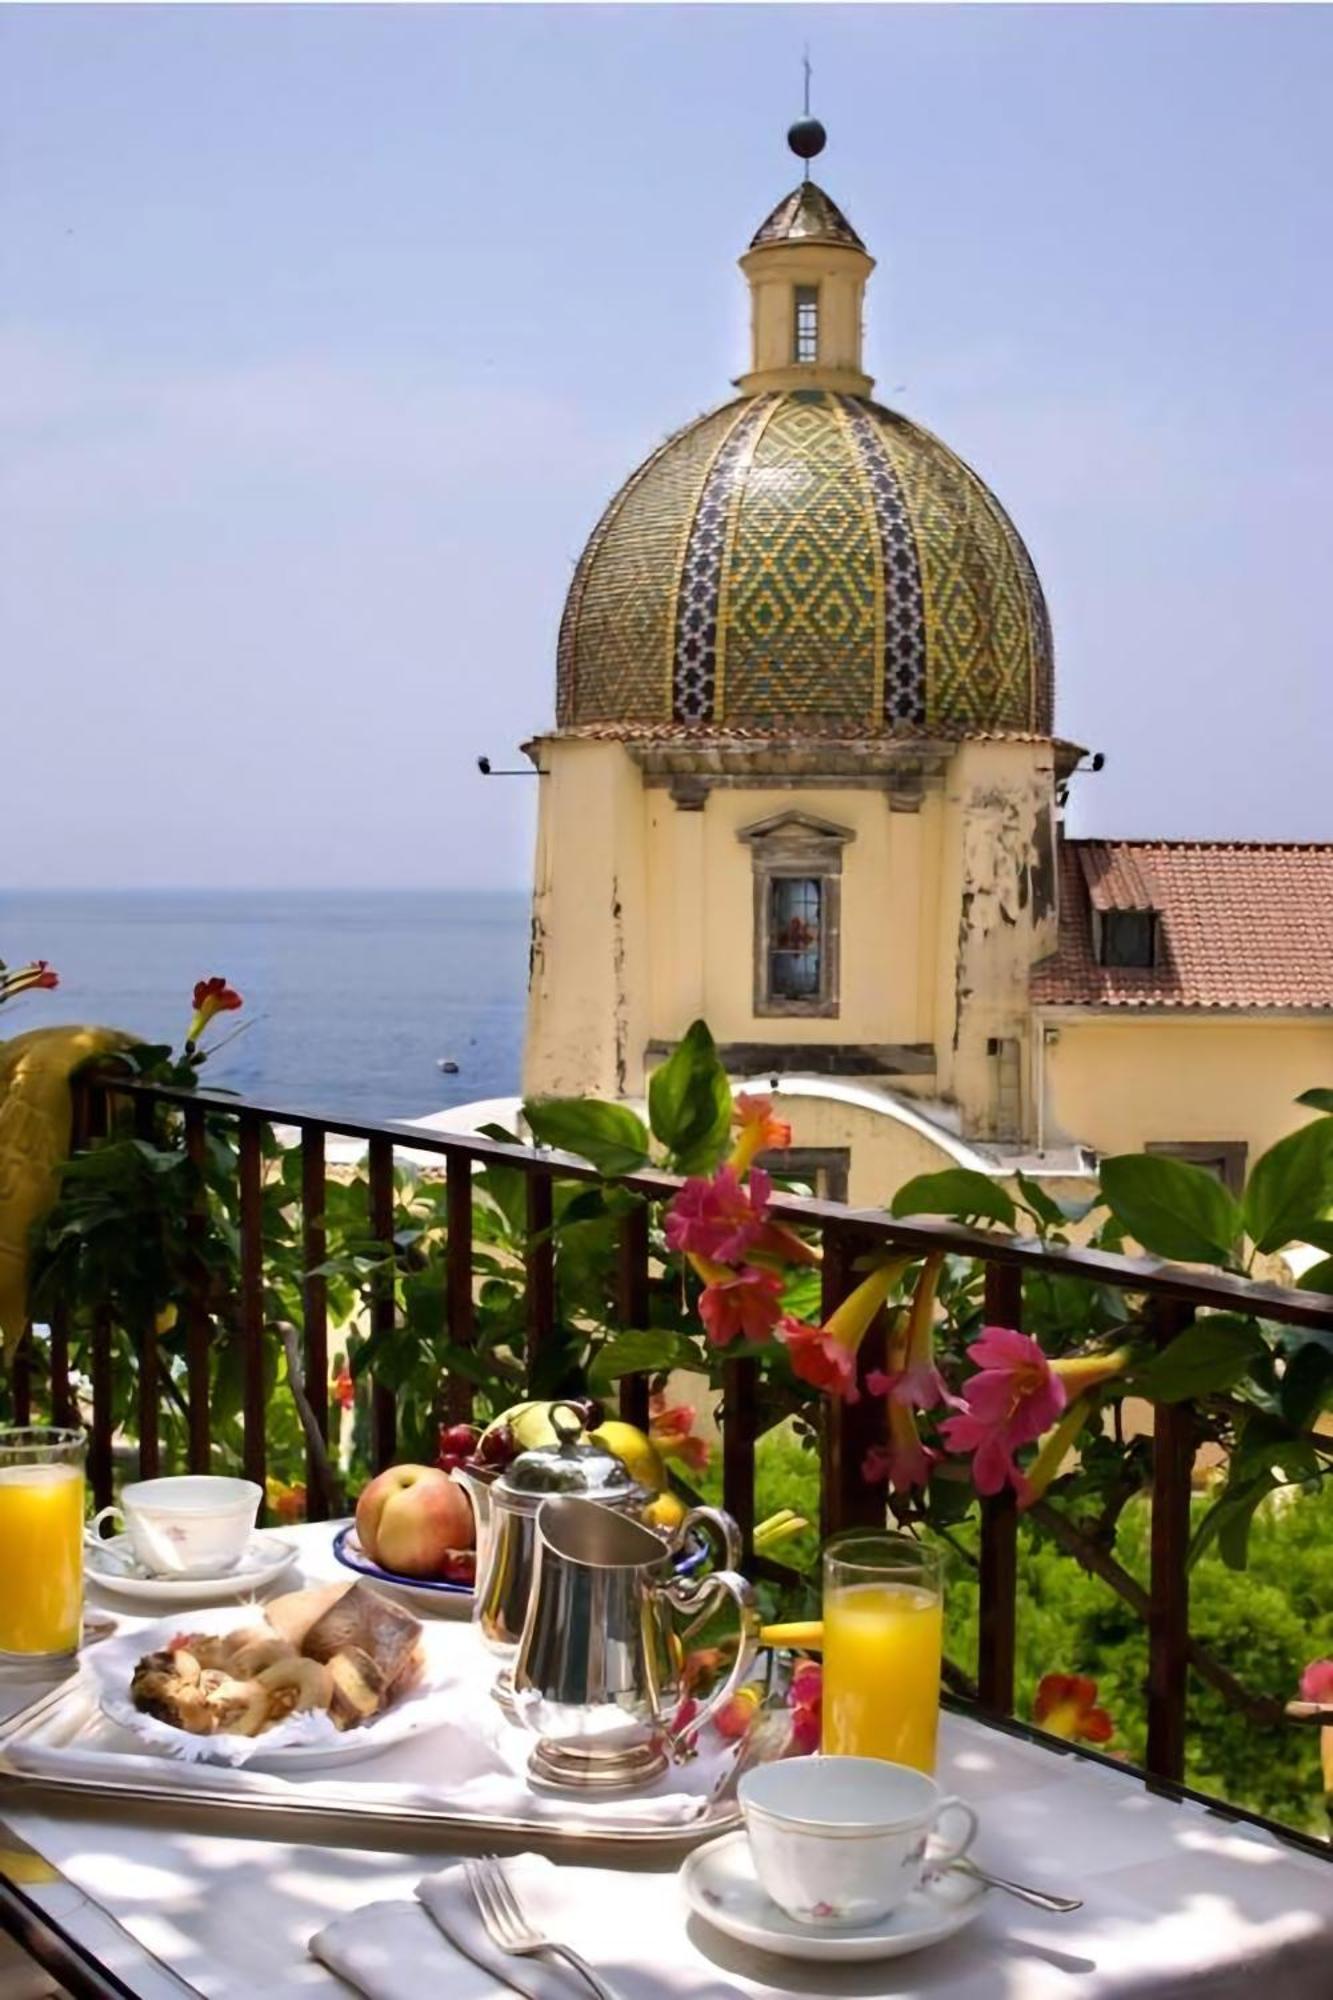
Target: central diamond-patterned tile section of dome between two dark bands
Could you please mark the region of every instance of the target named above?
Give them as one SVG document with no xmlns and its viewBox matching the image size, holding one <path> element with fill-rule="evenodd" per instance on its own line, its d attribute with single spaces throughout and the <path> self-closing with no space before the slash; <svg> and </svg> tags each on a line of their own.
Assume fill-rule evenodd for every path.
<svg viewBox="0 0 1333 2000">
<path fill-rule="evenodd" d="M 783 396 L 751 460 L 723 578 L 719 714 L 877 730 L 879 562 L 833 398 Z"/>
</svg>

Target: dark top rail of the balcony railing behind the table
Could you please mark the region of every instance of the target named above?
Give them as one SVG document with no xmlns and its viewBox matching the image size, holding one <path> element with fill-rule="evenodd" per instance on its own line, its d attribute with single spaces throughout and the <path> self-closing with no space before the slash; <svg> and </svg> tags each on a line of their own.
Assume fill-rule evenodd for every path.
<svg viewBox="0 0 1333 2000">
<path fill-rule="evenodd" d="M 600 1174 L 586 1160 L 548 1148 L 508 1146 L 502 1140 L 464 1132 L 432 1132 L 406 1120 L 346 1118 L 340 1112 L 294 1112 L 282 1106 L 256 1104 L 216 1090 L 176 1090 L 162 1084 L 104 1080 L 118 1094 L 132 1094 L 164 1104 L 198 1106 L 236 1118 L 242 1112 L 274 1126 L 294 1126 L 300 1132 L 334 1132 L 340 1138 L 366 1144 L 388 1140 L 412 1152 L 434 1152 L 440 1158 L 464 1154 L 488 1166 L 512 1166 L 524 1174 L 558 1174 L 562 1180 L 614 1180 L 634 1194 L 660 1200 L 681 1186 L 675 1174 L 644 1168 L 636 1174 Z M 1145 1292 L 1151 1298 L 1181 1300 L 1217 1312 L 1253 1312 L 1285 1326 L 1333 1326 L 1333 1296 L 1303 1292 L 1281 1284 L 1263 1284 L 1231 1272 L 1201 1266 L 1167 1264 L 1153 1256 L 1119 1256 L 1111 1250 L 1085 1250 L 1079 1244 L 1043 1244 L 1035 1236 L 1009 1236 L 999 1230 L 969 1230 L 937 1216 L 891 1216 L 883 1208 L 847 1208 L 843 1202 L 823 1202 L 801 1194 L 775 1194 L 771 1208 L 789 1222 L 805 1222 L 821 1230 L 865 1230 L 903 1250 L 947 1250 L 953 1256 L 985 1258 L 1045 1276 L 1081 1278 L 1089 1284 L 1109 1284 L 1121 1292 Z"/>
</svg>

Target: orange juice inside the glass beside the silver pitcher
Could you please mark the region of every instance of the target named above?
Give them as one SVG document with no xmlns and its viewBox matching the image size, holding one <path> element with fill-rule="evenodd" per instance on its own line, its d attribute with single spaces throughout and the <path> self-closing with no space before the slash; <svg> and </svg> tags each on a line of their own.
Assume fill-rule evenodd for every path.
<svg viewBox="0 0 1333 2000">
<path fill-rule="evenodd" d="M 825 1590 L 825 1756 L 935 1770 L 943 1604 L 921 1584 Z"/>
</svg>

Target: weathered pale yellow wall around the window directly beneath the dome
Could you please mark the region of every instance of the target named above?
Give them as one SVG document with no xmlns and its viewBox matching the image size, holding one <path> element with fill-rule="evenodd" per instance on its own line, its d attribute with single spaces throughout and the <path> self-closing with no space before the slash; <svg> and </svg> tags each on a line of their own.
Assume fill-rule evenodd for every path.
<svg viewBox="0 0 1333 2000">
<path fill-rule="evenodd" d="M 959 744 L 915 810 L 881 784 L 715 786 L 681 810 L 614 742 L 540 744 L 524 1088 L 636 1094 L 648 1042 L 703 1016 L 719 1042 L 929 1044 L 905 1094 L 953 1096 L 987 1136 L 991 1036 L 1027 1048 L 1027 978 L 1049 950 L 1031 858 L 1051 748 Z M 755 866 L 741 834 L 783 812 L 845 828 L 839 1012 L 755 1012 Z"/>
</svg>

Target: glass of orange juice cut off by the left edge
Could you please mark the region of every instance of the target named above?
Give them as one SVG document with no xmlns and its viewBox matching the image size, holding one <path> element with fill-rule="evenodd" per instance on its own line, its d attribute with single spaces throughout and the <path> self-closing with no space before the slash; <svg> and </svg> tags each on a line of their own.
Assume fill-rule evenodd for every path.
<svg viewBox="0 0 1333 2000">
<path fill-rule="evenodd" d="M 84 1434 L 0 1428 L 0 1660 L 60 1660 L 84 1616 Z"/>
</svg>

